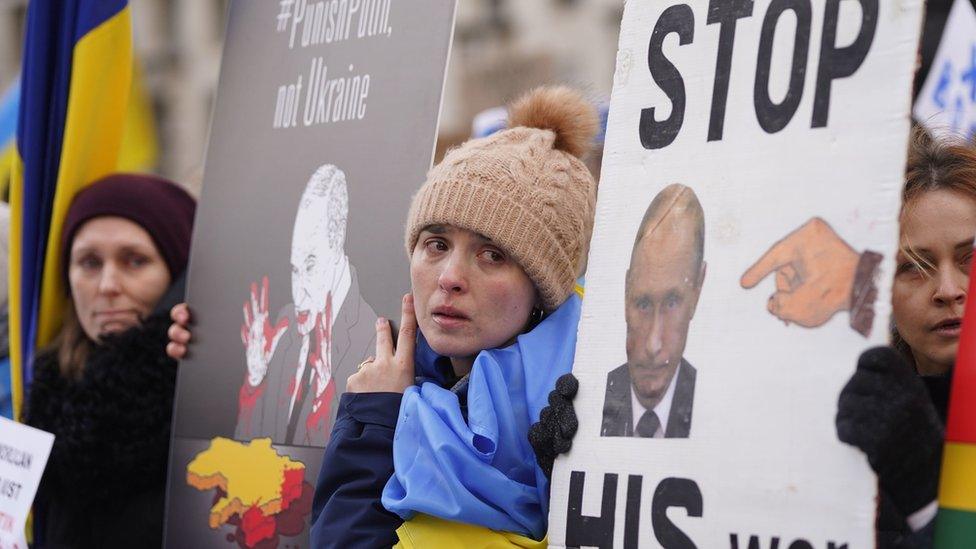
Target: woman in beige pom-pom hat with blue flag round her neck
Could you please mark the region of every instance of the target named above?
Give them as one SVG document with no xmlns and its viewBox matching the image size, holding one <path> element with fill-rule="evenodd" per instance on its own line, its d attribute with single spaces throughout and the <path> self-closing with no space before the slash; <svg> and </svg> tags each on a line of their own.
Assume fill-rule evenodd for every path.
<svg viewBox="0 0 976 549">
<path fill-rule="evenodd" d="M 398 337 L 380 318 L 347 381 L 313 547 L 544 546 L 548 471 L 528 431 L 572 366 L 597 128 L 578 92 L 539 88 L 431 169 L 406 222 L 412 293 Z M 183 350 L 189 332 L 171 334 Z"/>
</svg>

